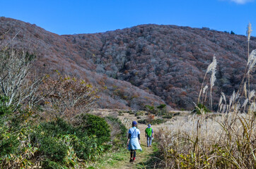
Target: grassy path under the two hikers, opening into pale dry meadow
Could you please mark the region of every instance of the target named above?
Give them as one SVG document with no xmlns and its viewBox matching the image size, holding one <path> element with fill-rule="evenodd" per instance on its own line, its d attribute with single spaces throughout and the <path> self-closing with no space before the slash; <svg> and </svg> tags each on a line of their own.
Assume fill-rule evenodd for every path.
<svg viewBox="0 0 256 169">
<path fill-rule="evenodd" d="M 107 109 L 101 109 L 100 111 L 101 115 L 107 116 L 111 115 L 113 113 L 112 110 Z M 117 111 L 116 111 L 117 112 Z M 175 116 L 171 118 L 170 120 L 167 120 L 165 123 L 162 123 L 161 125 L 152 125 L 151 127 L 153 129 L 154 133 L 157 133 L 158 130 L 161 128 L 161 126 L 171 123 L 173 120 L 180 120 L 183 115 L 187 115 L 187 111 L 183 111 L 180 113 L 180 111 L 173 111 L 173 113 L 179 113 L 178 116 Z M 122 123 L 127 127 L 127 130 L 132 127 L 132 121 L 138 122 L 137 117 L 134 114 L 129 113 L 122 113 L 122 115 L 117 116 Z M 146 118 L 146 115 L 141 115 L 141 118 Z M 134 163 L 130 163 L 130 152 L 124 147 L 121 148 L 121 151 L 113 152 L 112 154 L 109 154 L 109 156 L 105 157 L 105 161 L 101 163 L 99 166 L 94 166 L 95 168 L 104 168 L 104 169 L 112 169 L 112 168 L 122 168 L 122 169 L 134 169 L 134 168 L 154 168 L 154 166 L 146 166 L 146 162 L 150 160 L 150 158 L 154 158 L 154 153 L 156 152 L 156 140 L 153 139 L 152 144 L 155 144 L 155 146 L 147 147 L 146 144 L 146 137 L 145 137 L 145 129 L 147 124 L 140 124 L 138 123 L 137 128 L 141 132 L 141 148 L 142 151 L 137 150 L 136 151 L 136 159 Z M 127 131 L 128 132 L 128 131 Z M 151 164 L 152 165 L 152 164 Z"/>
</svg>

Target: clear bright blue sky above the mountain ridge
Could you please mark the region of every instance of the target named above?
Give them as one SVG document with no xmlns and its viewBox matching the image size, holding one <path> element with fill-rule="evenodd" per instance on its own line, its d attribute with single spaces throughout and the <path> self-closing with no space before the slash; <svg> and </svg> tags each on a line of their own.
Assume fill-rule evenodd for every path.
<svg viewBox="0 0 256 169">
<path fill-rule="evenodd" d="M 256 27 L 256 0 L 0 0 L 0 16 L 59 35 L 105 32 L 155 23 L 209 27 L 245 35 Z M 252 36 L 256 36 L 252 31 Z"/>
</svg>

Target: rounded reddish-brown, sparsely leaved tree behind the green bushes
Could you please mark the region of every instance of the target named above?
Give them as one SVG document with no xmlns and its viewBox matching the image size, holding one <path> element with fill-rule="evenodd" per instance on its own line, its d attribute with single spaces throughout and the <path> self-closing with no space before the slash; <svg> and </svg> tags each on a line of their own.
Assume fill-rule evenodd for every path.
<svg viewBox="0 0 256 169">
<path fill-rule="evenodd" d="M 47 77 L 42 89 L 50 92 L 45 96 L 45 108 L 56 116 L 65 115 L 72 118 L 80 111 L 86 111 L 94 106 L 99 98 L 98 89 L 84 80 L 76 77 L 60 75 Z"/>
</svg>

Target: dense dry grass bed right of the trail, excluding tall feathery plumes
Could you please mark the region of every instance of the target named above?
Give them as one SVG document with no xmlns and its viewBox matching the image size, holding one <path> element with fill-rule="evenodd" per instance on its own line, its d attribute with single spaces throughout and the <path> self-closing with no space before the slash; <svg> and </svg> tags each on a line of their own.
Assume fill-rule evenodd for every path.
<svg viewBox="0 0 256 169">
<path fill-rule="evenodd" d="M 190 115 L 156 134 L 165 168 L 256 168 L 255 115 Z"/>
</svg>

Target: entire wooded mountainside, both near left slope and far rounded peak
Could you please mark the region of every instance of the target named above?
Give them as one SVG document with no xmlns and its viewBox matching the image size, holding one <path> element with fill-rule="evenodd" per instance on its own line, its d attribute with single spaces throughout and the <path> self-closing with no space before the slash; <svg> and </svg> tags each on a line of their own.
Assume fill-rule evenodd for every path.
<svg viewBox="0 0 256 169">
<path fill-rule="evenodd" d="M 20 31 L 15 46 L 36 51 L 37 68 L 43 72 L 57 69 L 107 86 L 99 102 L 106 108 L 165 103 L 190 109 L 214 54 L 218 61 L 216 103 L 220 92 L 231 94 L 228 92 L 238 88 L 247 58 L 245 36 L 207 28 L 139 25 L 59 36 L 29 23 L 0 18 L 0 35 L 6 30 L 10 31 L 1 42 L 8 42 Z M 256 39 L 251 39 L 250 49 L 256 49 Z M 255 81 L 251 84 L 255 89 Z"/>
</svg>

